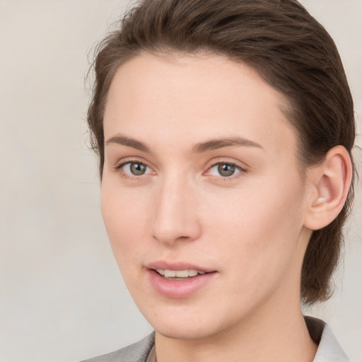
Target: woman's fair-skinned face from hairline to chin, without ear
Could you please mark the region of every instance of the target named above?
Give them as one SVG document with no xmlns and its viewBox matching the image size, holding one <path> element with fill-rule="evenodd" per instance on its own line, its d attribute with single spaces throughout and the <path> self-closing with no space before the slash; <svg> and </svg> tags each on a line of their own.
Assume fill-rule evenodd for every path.
<svg viewBox="0 0 362 362">
<path fill-rule="evenodd" d="M 248 66 L 216 55 L 144 54 L 117 71 L 103 218 L 156 332 L 206 338 L 299 308 L 310 235 L 283 102 Z"/>
</svg>

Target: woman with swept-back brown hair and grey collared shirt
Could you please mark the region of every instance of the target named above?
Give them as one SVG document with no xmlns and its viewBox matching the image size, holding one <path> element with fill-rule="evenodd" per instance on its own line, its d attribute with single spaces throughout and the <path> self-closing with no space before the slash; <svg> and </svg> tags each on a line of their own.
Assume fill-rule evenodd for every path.
<svg viewBox="0 0 362 362">
<path fill-rule="evenodd" d="M 326 300 L 352 199 L 353 101 L 294 0 L 146 0 L 100 45 L 102 211 L 155 329 L 88 361 L 349 361 Z"/>
</svg>

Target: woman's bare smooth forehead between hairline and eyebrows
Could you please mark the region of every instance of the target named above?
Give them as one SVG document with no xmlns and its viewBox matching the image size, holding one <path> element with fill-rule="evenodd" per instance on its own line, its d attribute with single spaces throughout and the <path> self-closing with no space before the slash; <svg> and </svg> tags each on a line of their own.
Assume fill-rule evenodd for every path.
<svg viewBox="0 0 362 362">
<path fill-rule="evenodd" d="M 105 107 L 105 138 L 119 132 L 170 145 L 240 136 L 294 151 L 284 96 L 243 63 L 215 54 L 142 54 L 115 74 Z"/>
</svg>

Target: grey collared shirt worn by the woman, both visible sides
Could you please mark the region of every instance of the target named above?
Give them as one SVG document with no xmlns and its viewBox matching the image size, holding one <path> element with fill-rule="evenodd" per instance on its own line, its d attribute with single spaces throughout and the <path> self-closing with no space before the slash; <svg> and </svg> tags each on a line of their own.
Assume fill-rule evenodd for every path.
<svg viewBox="0 0 362 362">
<path fill-rule="evenodd" d="M 305 317 L 310 337 L 318 344 L 313 362 L 351 362 L 339 345 L 332 329 L 313 317 Z M 155 333 L 135 344 L 82 362 L 155 362 Z"/>
</svg>

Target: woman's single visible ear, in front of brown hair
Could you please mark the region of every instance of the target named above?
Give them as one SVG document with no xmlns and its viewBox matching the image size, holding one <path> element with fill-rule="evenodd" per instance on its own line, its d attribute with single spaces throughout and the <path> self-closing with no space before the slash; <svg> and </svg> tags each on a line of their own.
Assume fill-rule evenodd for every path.
<svg viewBox="0 0 362 362">
<path fill-rule="evenodd" d="M 348 151 L 343 146 L 331 148 L 323 163 L 310 168 L 308 173 L 310 192 L 304 226 L 318 230 L 332 223 L 346 202 L 352 180 Z"/>
</svg>

